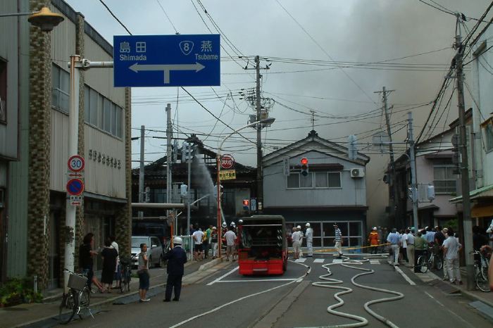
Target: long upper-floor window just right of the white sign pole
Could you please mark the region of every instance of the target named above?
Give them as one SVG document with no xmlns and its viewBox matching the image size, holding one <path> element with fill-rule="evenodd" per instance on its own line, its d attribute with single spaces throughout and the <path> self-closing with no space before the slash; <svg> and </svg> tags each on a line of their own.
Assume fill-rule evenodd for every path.
<svg viewBox="0 0 493 328">
<path fill-rule="evenodd" d="M 87 85 L 84 97 L 85 122 L 115 137 L 123 137 L 123 109 Z"/>
</svg>

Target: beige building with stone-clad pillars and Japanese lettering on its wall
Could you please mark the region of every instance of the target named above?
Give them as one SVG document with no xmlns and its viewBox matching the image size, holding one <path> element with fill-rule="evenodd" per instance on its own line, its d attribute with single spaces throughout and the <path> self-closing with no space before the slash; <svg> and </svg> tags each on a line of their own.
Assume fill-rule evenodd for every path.
<svg viewBox="0 0 493 328">
<path fill-rule="evenodd" d="M 48 6 L 65 20 L 52 32 L 30 27 L 26 16 L 0 18 L 0 234 L 2 277 L 33 277 L 61 284 L 64 265 L 70 55 L 112 61 L 113 47 L 82 13 L 63 0 L 1 1 L 0 13 Z M 6 90 L 6 92 L 5 92 Z M 95 246 L 115 234 L 130 253 L 130 89 L 113 87 L 113 70 L 82 72 L 78 150 L 85 158 L 81 238 Z M 76 258 L 77 266 L 77 258 Z"/>
</svg>

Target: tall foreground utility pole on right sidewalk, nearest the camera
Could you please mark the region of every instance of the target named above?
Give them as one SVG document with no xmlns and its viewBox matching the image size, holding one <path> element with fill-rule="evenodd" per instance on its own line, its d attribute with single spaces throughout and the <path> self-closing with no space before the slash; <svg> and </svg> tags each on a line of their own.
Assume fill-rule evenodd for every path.
<svg viewBox="0 0 493 328">
<path fill-rule="evenodd" d="M 460 26 L 461 16 L 457 15 L 457 25 Z M 458 130 L 459 130 L 459 145 L 458 149 L 461 152 L 461 162 L 459 163 L 461 172 L 461 187 L 462 187 L 462 220 L 464 233 L 464 253 L 466 255 L 466 272 L 467 272 L 467 289 L 474 289 L 474 260 L 473 254 L 473 224 L 470 220 L 470 196 L 469 196 L 469 168 L 468 168 L 468 149 L 466 139 L 466 106 L 464 104 L 464 86 L 463 86 L 463 54 L 464 45 L 461 39 L 461 29 L 457 29 L 455 47 L 457 49 L 454 57 L 456 67 L 457 80 L 457 99 L 458 99 Z"/>
</svg>

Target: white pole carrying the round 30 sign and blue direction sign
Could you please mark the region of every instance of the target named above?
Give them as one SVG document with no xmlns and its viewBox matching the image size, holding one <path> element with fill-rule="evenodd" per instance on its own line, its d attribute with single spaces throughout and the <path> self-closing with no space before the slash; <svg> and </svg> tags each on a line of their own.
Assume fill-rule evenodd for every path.
<svg viewBox="0 0 493 328">
<path fill-rule="evenodd" d="M 79 87 L 82 61 L 79 55 L 70 56 L 70 89 L 68 108 L 68 157 L 77 155 L 79 137 Z M 65 265 L 70 271 L 74 270 L 75 253 L 75 213 L 76 207 L 66 201 L 65 207 Z M 68 272 L 65 272 L 65 293 L 68 293 Z"/>
</svg>

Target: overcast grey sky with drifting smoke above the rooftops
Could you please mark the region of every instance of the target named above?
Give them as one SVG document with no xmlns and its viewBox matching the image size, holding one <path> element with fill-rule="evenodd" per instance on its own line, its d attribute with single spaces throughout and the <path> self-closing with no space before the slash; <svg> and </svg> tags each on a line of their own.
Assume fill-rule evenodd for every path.
<svg viewBox="0 0 493 328">
<path fill-rule="evenodd" d="M 113 43 L 113 35 L 127 34 L 99 0 L 65 1 L 85 15 L 87 22 L 108 42 Z M 479 18 L 489 4 L 487 0 L 425 1 L 472 18 Z M 311 110 L 315 111 L 315 130 L 320 137 L 345 144 L 348 134 L 358 134 L 359 141 L 368 141 L 363 137 L 375 133 L 384 122 L 378 109 L 382 106 L 381 96 L 374 93 L 382 86 L 395 90 L 389 95 L 389 105 L 394 105 L 392 130 L 399 130 L 404 127 L 406 108 L 435 98 L 454 54 L 451 44 L 456 19 L 418 0 L 104 0 L 104 3 L 136 35 L 208 34 L 209 29 L 218 33 L 214 25 L 219 27 L 227 51 L 221 51 L 224 58 L 221 87 L 187 90 L 230 127 L 245 125 L 248 115 L 254 113 L 239 94 L 241 89 L 255 86 L 254 70 L 243 69 L 254 68 L 254 63 L 238 56 L 259 55 L 264 58 L 262 66 L 271 64 L 270 70 L 262 71 L 262 92 L 263 97 L 275 100 L 270 116 L 276 121 L 263 130 L 264 153 L 306 137 L 311 130 Z M 466 26 L 470 29 L 475 23 L 470 20 Z M 463 33 L 467 34 L 467 30 Z M 414 56 L 420 53 L 427 54 Z M 393 58 L 401 59 L 388 61 Z M 317 61 L 316 65 L 313 60 Z M 381 61 L 385 63 L 341 68 Z M 151 137 L 166 135 L 159 131 L 166 129 L 164 108 L 168 102 L 172 105 L 175 137 L 178 131 L 187 135 L 196 133 L 205 139 L 206 146 L 216 149 L 220 136 L 231 132 L 230 127 L 216 122 L 182 90 L 133 88 L 132 136 L 139 136 L 140 125 L 149 129 L 146 160 L 165 155 L 164 140 Z M 416 133 L 430 108 L 413 109 Z M 434 124 L 432 134 L 447 127 L 445 120 L 457 117 L 455 101 L 449 109 L 442 108 L 444 115 Z M 344 118 L 355 115 L 359 115 L 357 120 Z M 405 138 L 401 132 L 405 129 L 396 133 L 397 141 Z M 225 144 L 224 152 L 232 153 L 240 163 L 255 166 L 255 132 L 244 130 L 242 134 L 252 142 L 237 135 L 228 139 L 231 142 Z M 133 159 L 137 160 L 139 141 L 133 142 Z M 387 158 L 365 151 L 372 157 L 374 169 L 380 172 Z"/>
</svg>

